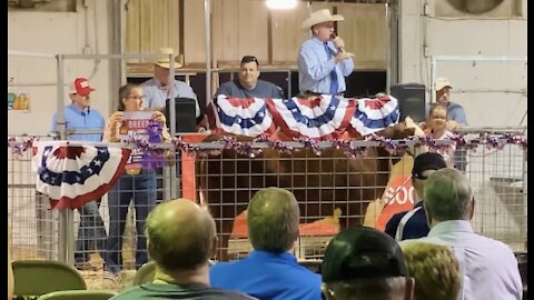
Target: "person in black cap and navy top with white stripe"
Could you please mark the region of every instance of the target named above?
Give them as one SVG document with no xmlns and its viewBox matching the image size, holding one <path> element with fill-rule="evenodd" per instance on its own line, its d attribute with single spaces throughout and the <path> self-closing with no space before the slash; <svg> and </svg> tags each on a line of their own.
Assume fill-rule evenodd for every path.
<svg viewBox="0 0 534 300">
<path fill-rule="evenodd" d="M 415 207 L 409 211 L 394 214 L 386 223 L 384 231 L 387 234 L 397 241 L 424 238 L 428 234 L 431 229 L 426 222 L 422 196 L 428 176 L 443 168 L 447 168 L 447 163 L 439 153 L 425 152 L 414 159 L 412 184 L 415 189 Z"/>
</svg>

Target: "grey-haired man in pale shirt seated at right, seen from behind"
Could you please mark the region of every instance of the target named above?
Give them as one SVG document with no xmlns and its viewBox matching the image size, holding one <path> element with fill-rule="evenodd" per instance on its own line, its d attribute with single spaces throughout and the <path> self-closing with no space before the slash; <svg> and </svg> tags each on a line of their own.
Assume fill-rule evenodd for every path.
<svg viewBox="0 0 534 300">
<path fill-rule="evenodd" d="M 445 168 L 426 182 L 423 206 L 431 231 L 426 238 L 406 240 L 447 244 L 463 273 L 462 300 L 522 299 L 517 259 L 505 243 L 474 232 L 475 200 L 462 171 Z"/>
</svg>

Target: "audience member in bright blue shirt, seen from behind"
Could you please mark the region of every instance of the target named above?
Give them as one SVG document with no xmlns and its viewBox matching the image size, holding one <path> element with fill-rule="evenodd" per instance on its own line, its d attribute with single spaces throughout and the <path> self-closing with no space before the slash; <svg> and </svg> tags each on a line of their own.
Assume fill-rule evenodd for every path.
<svg viewBox="0 0 534 300">
<path fill-rule="evenodd" d="M 299 209 L 288 190 L 267 188 L 248 204 L 248 237 L 254 250 L 245 259 L 209 269 L 215 288 L 237 290 L 261 300 L 322 299 L 320 276 L 297 262 Z"/>
</svg>

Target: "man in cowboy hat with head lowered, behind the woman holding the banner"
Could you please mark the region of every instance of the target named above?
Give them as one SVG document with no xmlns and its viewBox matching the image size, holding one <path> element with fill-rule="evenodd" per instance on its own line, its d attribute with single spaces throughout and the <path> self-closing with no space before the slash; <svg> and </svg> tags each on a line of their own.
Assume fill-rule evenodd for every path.
<svg viewBox="0 0 534 300">
<path fill-rule="evenodd" d="M 141 83 L 142 92 L 145 94 L 145 106 L 149 109 L 159 110 L 165 113 L 165 104 L 167 99 L 170 98 L 170 84 L 169 84 L 169 54 L 175 57 L 175 69 L 181 68 L 182 64 L 176 61 L 172 48 L 160 48 L 161 54 L 165 57 L 159 58 L 154 63 L 154 78 Z M 190 98 L 196 101 L 196 118 L 200 117 L 200 107 L 198 106 L 197 96 L 186 82 L 180 80 L 174 80 L 175 98 Z"/>
</svg>

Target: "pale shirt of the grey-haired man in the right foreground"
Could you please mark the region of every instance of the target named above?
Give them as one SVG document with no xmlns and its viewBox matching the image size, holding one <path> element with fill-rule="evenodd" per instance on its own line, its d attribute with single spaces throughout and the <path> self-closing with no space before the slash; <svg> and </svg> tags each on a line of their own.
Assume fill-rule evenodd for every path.
<svg viewBox="0 0 534 300">
<path fill-rule="evenodd" d="M 523 284 L 517 259 L 503 242 L 473 231 L 468 221 L 439 222 L 426 238 L 406 240 L 453 248 L 463 273 L 462 300 L 520 300 Z"/>
</svg>

